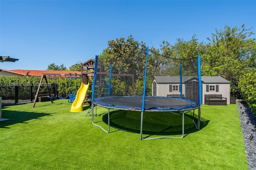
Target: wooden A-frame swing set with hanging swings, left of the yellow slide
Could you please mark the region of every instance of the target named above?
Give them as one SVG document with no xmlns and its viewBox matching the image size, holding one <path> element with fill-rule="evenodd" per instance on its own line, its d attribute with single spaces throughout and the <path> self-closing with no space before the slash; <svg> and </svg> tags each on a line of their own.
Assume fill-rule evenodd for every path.
<svg viewBox="0 0 256 170">
<path fill-rule="evenodd" d="M 48 83 L 48 80 L 47 80 L 47 76 L 49 76 L 49 81 L 50 81 L 50 78 L 52 78 L 51 76 L 54 76 L 54 93 L 55 94 L 51 94 L 51 89 L 50 89 L 50 83 Z M 73 76 L 73 77 L 72 77 Z M 62 85 L 62 83 L 61 83 L 61 78 L 65 78 L 65 90 L 66 90 L 66 96 L 63 96 L 63 94 L 62 94 L 62 96 L 61 96 L 61 89 L 62 89 L 62 87 L 63 87 L 63 85 Z M 57 92 L 57 87 L 56 87 L 56 84 L 57 84 L 57 82 L 56 82 L 56 79 L 57 78 L 59 78 L 59 82 L 58 82 L 58 92 Z M 69 83 L 68 83 L 68 85 L 67 85 L 67 78 L 69 78 Z M 41 77 L 41 79 L 40 79 L 40 83 L 38 84 L 38 89 L 37 89 L 37 91 L 36 91 L 36 95 L 35 95 L 35 99 L 34 99 L 34 103 L 33 103 L 33 105 L 32 105 L 32 108 L 34 108 L 35 107 L 35 105 L 36 105 L 36 100 L 38 99 L 38 97 L 42 97 L 42 96 L 47 96 L 49 99 L 50 99 L 50 101 L 53 103 L 53 99 L 55 99 L 55 98 L 59 98 L 59 99 L 68 99 L 68 102 L 73 102 L 74 101 L 74 99 L 76 98 L 76 93 L 70 93 L 70 88 L 68 87 L 69 85 L 70 85 L 70 79 L 74 79 L 74 83 L 75 83 L 75 89 L 74 89 L 74 91 L 76 91 L 77 90 L 77 86 L 76 86 L 76 81 L 75 81 L 75 79 L 76 78 L 80 78 L 80 77 L 78 77 L 78 75 L 76 74 L 76 73 L 74 73 L 74 74 L 71 74 L 71 73 L 68 73 L 68 74 L 50 74 L 50 73 L 48 73 L 48 74 L 43 74 L 42 75 L 42 77 Z M 43 80 L 45 80 L 45 84 L 43 84 L 42 82 L 43 82 Z M 47 95 L 41 95 L 41 94 L 39 94 L 40 92 L 40 87 L 41 87 L 41 85 L 44 85 L 44 86 L 46 86 L 47 87 Z M 61 87 L 62 86 L 62 87 Z"/>
</svg>

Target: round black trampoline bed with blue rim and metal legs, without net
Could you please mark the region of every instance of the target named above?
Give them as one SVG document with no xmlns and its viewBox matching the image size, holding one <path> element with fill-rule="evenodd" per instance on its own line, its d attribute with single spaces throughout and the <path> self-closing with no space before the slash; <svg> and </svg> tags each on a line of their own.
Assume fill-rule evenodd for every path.
<svg viewBox="0 0 256 170">
<path fill-rule="evenodd" d="M 100 127 L 99 125 L 96 125 L 93 122 L 94 109 L 92 109 L 92 124 L 96 125 L 97 127 L 100 127 L 102 130 L 108 133 L 110 132 L 110 109 L 140 111 L 141 112 L 140 140 L 148 140 L 148 139 L 155 139 L 155 138 L 183 138 L 185 111 L 193 111 L 193 122 L 194 122 L 194 110 L 200 109 L 200 105 L 198 103 L 194 101 L 190 101 L 188 99 L 146 96 L 145 108 L 143 111 L 142 102 L 143 102 L 143 96 L 110 96 L 110 97 L 100 97 L 98 99 L 94 99 L 92 105 L 101 106 L 108 109 L 108 130 L 105 130 L 104 128 Z M 182 115 L 182 136 L 180 137 L 160 136 L 155 138 L 142 138 L 143 112 L 169 112 L 169 113 Z M 198 117 L 199 117 L 199 114 L 198 114 Z M 194 122 L 194 125 L 196 126 L 195 122 Z"/>
</svg>

